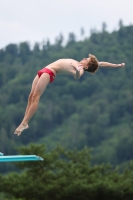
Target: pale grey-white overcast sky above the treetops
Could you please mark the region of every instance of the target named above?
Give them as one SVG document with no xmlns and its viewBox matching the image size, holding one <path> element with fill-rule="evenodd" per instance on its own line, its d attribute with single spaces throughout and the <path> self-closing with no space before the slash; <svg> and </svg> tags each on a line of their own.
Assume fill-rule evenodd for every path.
<svg viewBox="0 0 133 200">
<path fill-rule="evenodd" d="M 81 39 L 89 37 L 90 30 L 109 32 L 118 30 L 119 21 L 133 24 L 132 0 L 0 0 L 0 49 L 9 44 L 29 42 L 33 46 L 47 39 L 51 43 L 69 33 Z"/>
</svg>

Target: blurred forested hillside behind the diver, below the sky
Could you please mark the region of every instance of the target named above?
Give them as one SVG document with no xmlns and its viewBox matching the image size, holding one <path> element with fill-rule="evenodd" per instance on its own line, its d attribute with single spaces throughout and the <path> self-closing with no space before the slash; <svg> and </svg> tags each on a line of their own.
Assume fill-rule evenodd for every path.
<svg viewBox="0 0 133 200">
<path fill-rule="evenodd" d="M 92 30 L 76 40 L 70 33 L 63 45 L 60 34 L 54 44 L 9 44 L 0 49 L 0 152 L 17 154 L 30 143 L 45 145 L 50 152 L 58 145 L 67 150 L 91 149 L 90 164 L 110 163 L 124 169 L 133 157 L 133 26 L 108 32 Z M 14 135 L 27 105 L 37 71 L 60 58 L 80 61 L 88 54 L 99 61 L 125 62 L 124 68 L 100 68 L 79 81 L 57 75 L 42 95 L 38 111 L 20 137 Z M 0 172 L 14 171 L 13 164 L 0 164 Z"/>
</svg>

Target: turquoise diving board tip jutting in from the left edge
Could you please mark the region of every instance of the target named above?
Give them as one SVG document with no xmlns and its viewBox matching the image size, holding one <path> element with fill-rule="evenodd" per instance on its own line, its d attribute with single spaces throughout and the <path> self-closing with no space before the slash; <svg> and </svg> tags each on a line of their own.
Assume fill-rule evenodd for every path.
<svg viewBox="0 0 133 200">
<path fill-rule="evenodd" d="M 43 158 L 36 155 L 13 155 L 13 156 L 3 156 L 0 152 L 0 162 L 20 162 L 20 161 L 43 161 Z"/>
</svg>

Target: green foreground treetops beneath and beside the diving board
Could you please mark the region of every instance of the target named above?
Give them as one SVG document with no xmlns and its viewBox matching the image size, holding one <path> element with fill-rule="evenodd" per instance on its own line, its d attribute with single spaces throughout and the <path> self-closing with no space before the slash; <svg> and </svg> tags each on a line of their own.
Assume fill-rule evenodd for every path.
<svg viewBox="0 0 133 200">
<path fill-rule="evenodd" d="M 31 144 L 21 154 L 37 154 L 44 161 L 22 162 L 21 173 L 0 175 L 0 192 L 22 200 L 130 200 L 133 197 L 133 165 L 119 174 L 110 165 L 90 166 L 90 150 L 65 150 L 58 146 L 46 153 L 43 145 Z"/>
</svg>

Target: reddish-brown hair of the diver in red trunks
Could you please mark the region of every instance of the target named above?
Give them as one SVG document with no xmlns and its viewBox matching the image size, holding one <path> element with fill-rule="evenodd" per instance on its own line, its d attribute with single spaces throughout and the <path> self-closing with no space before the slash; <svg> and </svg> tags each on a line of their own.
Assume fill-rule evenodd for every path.
<svg viewBox="0 0 133 200">
<path fill-rule="evenodd" d="M 98 70 L 98 59 L 92 54 L 89 54 L 89 58 L 88 69 L 85 69 L 85 71 L 95 73 Z"/>
</svg>

